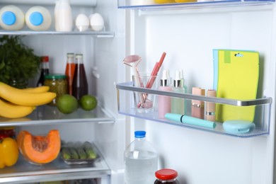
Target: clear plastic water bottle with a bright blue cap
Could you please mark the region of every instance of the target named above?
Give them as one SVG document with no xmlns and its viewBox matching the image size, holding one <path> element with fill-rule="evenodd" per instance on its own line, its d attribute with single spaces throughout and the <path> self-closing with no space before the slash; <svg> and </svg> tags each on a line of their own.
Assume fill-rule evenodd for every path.
<svg viewBox="0 0 276 184">
<path fill-rule="evenodd" d="M 125 183 L 152 184 L 158 170 L 158 154 L 145 138 L 145 131 L 134 132 L 135 139 L 125 149 Z"/>
</svg>

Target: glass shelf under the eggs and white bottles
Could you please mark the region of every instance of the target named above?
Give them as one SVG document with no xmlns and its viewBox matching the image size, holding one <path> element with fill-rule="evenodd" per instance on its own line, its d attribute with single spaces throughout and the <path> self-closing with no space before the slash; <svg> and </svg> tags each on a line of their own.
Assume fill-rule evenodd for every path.
<svg viewBox="0 0 276 184">
<path fill-rule="evenodd" d="M 71 31 L 71 32 L 57 32 L 49 31 L 32 31 L 32 30 L 0 30 L 0 35 L 91 35 L 97 38 L 114 38 L 115 33 L 111 31 Z"/>
</svg>

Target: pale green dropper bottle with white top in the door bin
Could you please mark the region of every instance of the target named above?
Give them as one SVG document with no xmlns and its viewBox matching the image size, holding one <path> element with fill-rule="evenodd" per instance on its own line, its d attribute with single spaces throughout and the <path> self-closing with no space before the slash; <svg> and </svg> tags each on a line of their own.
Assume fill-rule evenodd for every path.
<svg viewBox="0 0 276 184">
<path fill-rule="evenodd" d="M 176 76 L 173 79 L 173 92 L 175 93 L 185 93 L 185 88 L 183 80 L 180 78 L 180 71 L 176 71 Z M 171 98 L 171 113 L 185 114 L 185 99 L 184 98 Z"/>
</svg>

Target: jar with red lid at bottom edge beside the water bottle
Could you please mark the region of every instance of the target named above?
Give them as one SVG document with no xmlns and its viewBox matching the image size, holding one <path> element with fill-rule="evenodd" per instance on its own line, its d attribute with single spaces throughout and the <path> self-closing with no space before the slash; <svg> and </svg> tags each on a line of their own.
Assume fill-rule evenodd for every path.
<svg viewBox="0 0 276 184">
<path fill-rule="evenodd" d="M 170 184 L 179 184 L 179 181 L 176 177 L 178 177 L 178 172 L 170 169 L 170 168 L 163 168 L 159 171 L 155 172 L 156 180 L 154 184 L 163 184 L 163 183 L 170 183 Z"/>
</svg>

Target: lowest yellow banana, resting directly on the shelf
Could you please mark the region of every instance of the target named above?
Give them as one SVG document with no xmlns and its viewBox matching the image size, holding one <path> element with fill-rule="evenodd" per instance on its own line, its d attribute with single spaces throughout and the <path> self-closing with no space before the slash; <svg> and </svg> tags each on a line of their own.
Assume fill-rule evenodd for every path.
<svg viewBox="0 0 276 184">
<path fill-rule="evenodd" d="M 25 117 L 33 112 L 35 107 L 15 105 L 0 99 L 0 115 L 8 118 Z"/>
</svg>

